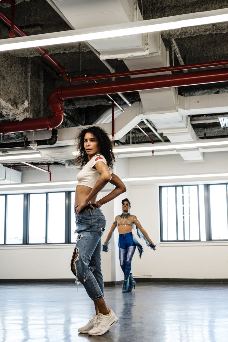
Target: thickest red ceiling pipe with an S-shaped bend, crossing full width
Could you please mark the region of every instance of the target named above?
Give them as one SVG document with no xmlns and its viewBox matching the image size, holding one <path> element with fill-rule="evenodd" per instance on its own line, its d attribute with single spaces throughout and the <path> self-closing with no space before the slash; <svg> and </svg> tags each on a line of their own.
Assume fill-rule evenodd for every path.
<svg viewBox="0 0 228 342">
<path fill-rule="evenodd" d="M 121 81 L 103 83 L 88 83 L 77 86 L 59 87 L 54 89 L 48 100 L 52 117 L 39 119 L 26 119 L 17 122 L 0 123 L 0 133 L 25 132 L 39 129 L 58 127 L 64 118 L 62 108 L 65 98 L 105 95 L 107 93 L 129 92 L 147 89 L 160 89 L 193 84 L 215 83 L 228 81 L 228 68 L 194 73 L 159 75 L 140 77 Z"/>
</svg>

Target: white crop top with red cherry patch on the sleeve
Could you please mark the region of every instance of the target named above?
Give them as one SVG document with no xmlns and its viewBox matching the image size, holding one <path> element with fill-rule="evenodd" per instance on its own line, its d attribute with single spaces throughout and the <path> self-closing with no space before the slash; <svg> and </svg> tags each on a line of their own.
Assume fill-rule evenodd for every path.
<svg viewBox="0 0 228 342">
<path fill-rule="evenodd" d="M 103 161 L 105 165 L 107 165 L 107 161 L 104 156 L 101 154 L 97 154 L 93 156 L 93 158 L 88 161 L 87 164 L 83 167 L 83 169 L 77 174 L 77 185 L 85 185 L 89 188 L 93 188 L 98 180 L 100 174 L 96 169 L 93 169 L 93 166 L 97 163 L 97 161 Z"/>
</svg>

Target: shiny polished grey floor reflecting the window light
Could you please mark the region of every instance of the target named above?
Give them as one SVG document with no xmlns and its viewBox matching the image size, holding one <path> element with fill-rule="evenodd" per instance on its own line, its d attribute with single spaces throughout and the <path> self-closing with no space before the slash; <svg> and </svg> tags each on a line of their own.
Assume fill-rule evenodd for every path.
<svg viewBox="0 0 228 342">
<path fill-rule="evenodd" d="M 79 334 L 93 302 L 72 283 L 1 284 L 1 342 L 227 342 L 228 284 L 138 282 L 105 287 L 119 321 L 103 336 Z"/>
</svg>

